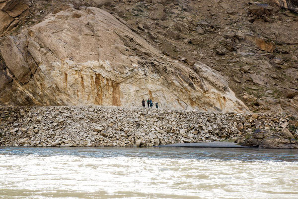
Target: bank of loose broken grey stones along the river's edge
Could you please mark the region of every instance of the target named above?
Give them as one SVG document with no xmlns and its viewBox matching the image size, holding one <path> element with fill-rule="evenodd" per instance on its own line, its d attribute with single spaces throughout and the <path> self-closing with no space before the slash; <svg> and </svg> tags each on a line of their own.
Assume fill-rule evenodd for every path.
<svg viewBox="0 0 298 199">
<path fill-rule="evenodd" d="M 292 120 L 289 115 L 155 108 L 1 106 L 0 146 L 158 146 L 236 140 L 255 129 L 289 131 Z M 294 138 L 298 131 L 290 130 Z"/>
</svg>

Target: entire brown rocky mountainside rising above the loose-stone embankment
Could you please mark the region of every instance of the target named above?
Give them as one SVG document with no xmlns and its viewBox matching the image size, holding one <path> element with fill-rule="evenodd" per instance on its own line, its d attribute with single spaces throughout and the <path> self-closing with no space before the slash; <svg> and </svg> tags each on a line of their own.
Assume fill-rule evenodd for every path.
<svg viewBox="0 0 298 199">
<path fill-rule="evenodd" d="M 296 114 L 296 8 L 296 0 L 0 0 L 0 104 L 152 98 L 164 108 Z"/>
</svg>

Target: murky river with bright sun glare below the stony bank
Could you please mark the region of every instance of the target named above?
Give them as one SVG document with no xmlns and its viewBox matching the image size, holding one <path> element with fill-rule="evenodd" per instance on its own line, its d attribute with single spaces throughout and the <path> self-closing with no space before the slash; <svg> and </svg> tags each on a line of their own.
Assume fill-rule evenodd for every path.
<svg viewBox="0 0 298 199">
<path fill-rule="evenodd" d="M 0 147 L 0 199 L 298 199 L 298 150 Z"/>
</svg>

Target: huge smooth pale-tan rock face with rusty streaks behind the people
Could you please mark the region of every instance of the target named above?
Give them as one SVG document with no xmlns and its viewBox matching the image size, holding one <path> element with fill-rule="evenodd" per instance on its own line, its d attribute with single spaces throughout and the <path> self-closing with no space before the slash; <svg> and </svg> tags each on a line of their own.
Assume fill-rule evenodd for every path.
<svg viewBox="0 0 298 199">
<path fill-rule="evenodd" d="M 171 60 L 120 18 L 95 7 L 49 14 L 0 39 L 0 104 L 246 111 L 223 76 Z"/>
</svg>

